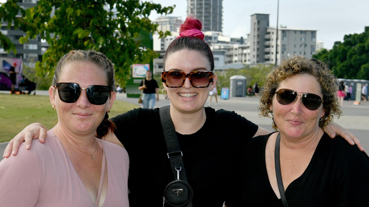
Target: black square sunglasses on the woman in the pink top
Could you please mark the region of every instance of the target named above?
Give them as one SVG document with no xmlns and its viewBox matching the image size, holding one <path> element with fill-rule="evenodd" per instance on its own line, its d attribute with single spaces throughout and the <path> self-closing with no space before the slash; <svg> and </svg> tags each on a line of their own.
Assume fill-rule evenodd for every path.
<svg viewBox="0 0 369 207">
<path fill-rule="evenodd" d="M 90 85 L 87 88 L 81 88 L 76 83 L 56 83 L 60 100 L 66 103 L 74 103 L 78 100 L 82 90 L 86 90 L 87 99 L 94 105 L 103 105 L 106 103 L 111 92 L 110 87 L 106 85 Z"/>
</svg>

